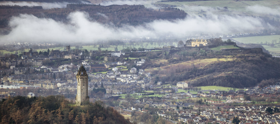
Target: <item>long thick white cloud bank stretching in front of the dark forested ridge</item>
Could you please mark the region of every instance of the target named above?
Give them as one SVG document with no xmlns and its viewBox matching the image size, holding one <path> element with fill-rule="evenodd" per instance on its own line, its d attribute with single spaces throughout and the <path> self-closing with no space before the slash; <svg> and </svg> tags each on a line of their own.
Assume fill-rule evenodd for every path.
<svg viewBox="0 0 280 124">
<path fill-rule="evenodd" d="M 207 17 L 190 15 L 184 20 L 155 20 L 145 26 L 124 26 L 115 28 L 91 21 L 85 12 L 72 12 L 69 23 L 64 24 L 53 19 L 37 18 L 34 15 L 21 14 L 12 17 L 9 22 L 11 32 L 0 35 L 1 42 L 95 42 L 122 38 L 140 38 L 161 36 L 187 37 L 201 33 L 230 34 L 237 32 L 258 32 L 273 29 L 257 17 L 239 15 L 215 15 Z"/>
</svg>

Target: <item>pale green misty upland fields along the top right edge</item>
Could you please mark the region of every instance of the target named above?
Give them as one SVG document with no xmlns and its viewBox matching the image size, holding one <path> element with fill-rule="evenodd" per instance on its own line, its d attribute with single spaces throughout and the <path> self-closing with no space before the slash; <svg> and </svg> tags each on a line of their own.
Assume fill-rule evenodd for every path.
<svg viewBox="0 0 280 124">
<path fill-rule="evenodd" d="M 254 6 L 254 5 L 261 5 L 264 7 L 270 7 L 274 9 L 278 9 L 280 6 L 280 2 L 278 0 L 259 0 L 259 1 L 236 1 L 236 0 L 211 0 L 211 1 L 193 1 L 193 2 L 156 2 L 154 4 L 158 4 L 161 6 L 161 4 L 166 5 L 172 5 L 176 8 L 179 8 L 181 10 L 184 10 L 187 13 L 194 13 L 194 14 L 205 14 L 207 13 L 207 10 L 205 7 L 227 7 L 229 11 L 223 11 L 219 9 L 210 9 L 208 11 L 211 11 L 212 13 L 216 14 L 246 14 L 246 15 L 261 15 L 256 14 L 251 11 L 247 11 L 248 6 Z M 201 6 L 201 7 L 200 7 Z M 205 9 L 204 11 L 202 11 Z"/>
</svg>

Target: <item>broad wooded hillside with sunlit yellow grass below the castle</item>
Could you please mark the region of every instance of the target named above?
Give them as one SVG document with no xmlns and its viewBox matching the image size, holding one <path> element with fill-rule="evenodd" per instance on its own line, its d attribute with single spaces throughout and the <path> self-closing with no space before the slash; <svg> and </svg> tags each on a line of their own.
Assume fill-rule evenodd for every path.
<svg viewBox="0 0 280 124">
<path fill-rule="evenodd" d="M 188 82 L 190 86 L 252 87 L 279 82 L 279 58 L 261 48 L 206 51 L 192 49 L 173 54 L 148 55 L 142 68 L 155 76 L 155 82 Z"/>
</svg>

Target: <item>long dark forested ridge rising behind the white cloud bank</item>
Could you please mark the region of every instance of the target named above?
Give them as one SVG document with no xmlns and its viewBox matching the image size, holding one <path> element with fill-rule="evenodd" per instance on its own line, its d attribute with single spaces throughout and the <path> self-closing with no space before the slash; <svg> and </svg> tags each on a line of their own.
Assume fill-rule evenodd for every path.
<svg viewBox="0 0 280 124">
<path fill-rule="evenodd" d="M 69 4 L 71 5 L 71 4 Z M 69 6 L 68 5 L 68 6 Z M 9 28 L 8 22 L 12 16 L 19 14 L 32 14 L 38 18 L 51 18 L 56 21 L 68 22 L 68 15 L 74 11 L 89 14 L 90 20 L 101 24 L 113 24 L 116 27 L 123 25 L 144 25 L 153 20 L 184 19 L 187 15 L 177 8 L 163 8 L 160 11 L 146 8 L 143 5 L 82 5 L 72 8 L 43 9 L 1 9 L 0 28 Z"/>
</svg>

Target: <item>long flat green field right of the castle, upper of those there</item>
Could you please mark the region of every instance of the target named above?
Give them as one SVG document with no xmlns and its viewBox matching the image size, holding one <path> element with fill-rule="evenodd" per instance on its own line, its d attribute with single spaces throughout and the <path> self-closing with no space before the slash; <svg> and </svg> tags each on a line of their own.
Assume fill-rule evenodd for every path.
<svg viewBox="0 0 280 124">
<path fill-rule="evenodd" d="M 243 37 L 243 38 L 232 38 L 237 42 L 241 43 L 256 43 L 264 44 L 266 42 L 271 43 L 272 40 L 276 40 L 277 43 L 280 42 L 280 35 L 266 35 L 266 36 L 254 36 L 254 37 Z"/>
</svg>

